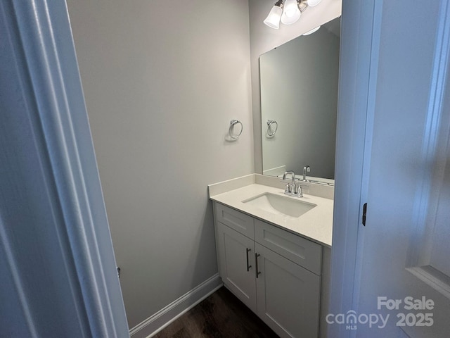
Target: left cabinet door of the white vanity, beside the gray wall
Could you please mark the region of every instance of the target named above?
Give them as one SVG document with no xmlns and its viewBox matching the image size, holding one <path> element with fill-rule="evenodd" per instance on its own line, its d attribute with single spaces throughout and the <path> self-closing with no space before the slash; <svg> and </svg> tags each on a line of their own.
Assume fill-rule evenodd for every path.
<svg viewBox="0 0 450 338">
<path fill-rule="evenodd" d="M 223 282 L 256 313 L 255 242 L 218 222 L 217 244 Z"/>
</svg>

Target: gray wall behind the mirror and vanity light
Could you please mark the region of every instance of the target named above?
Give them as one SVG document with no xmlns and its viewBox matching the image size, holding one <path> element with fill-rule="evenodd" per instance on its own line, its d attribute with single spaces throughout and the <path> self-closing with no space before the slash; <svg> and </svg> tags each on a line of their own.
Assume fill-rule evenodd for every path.
<svg viewBox="0 0 450 338">
<path fill-rule="evenodd" d="M 262 24 L 274 6 L 274 0 L 249 0 L 250 6 L 250 62 L 252 68 L 253 137 L 255 139 L 255 172 L 262 173 L 261 99 L 259 94 L 259 56 L 302 35 L 318 25 L 337 18 L 342 0 L 322 0 L 314 8 L 307 8 L 293 25 L 280 25 L 274 30 Z"/>
</svg>

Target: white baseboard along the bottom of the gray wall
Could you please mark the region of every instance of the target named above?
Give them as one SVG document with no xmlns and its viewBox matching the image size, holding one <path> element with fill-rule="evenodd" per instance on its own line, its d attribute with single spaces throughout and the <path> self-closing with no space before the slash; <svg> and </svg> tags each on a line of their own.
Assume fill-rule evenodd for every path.
<svg viewBox="0 0 450 338">
<path fill-rule="evenodd" d="M 150 316 L 142 323 L 139 323 L 131 330 L 129 334 L 131 338 L 150 338 L 153 335 L 160 332 L 167 325 L 171 324 L 176 318 L 184 315 L 187 311 L 193 308 L 195 305 L 203 301 L 207 296 L 210 296 L 213 292 L 219 289 L 224 283 L 222 283 L 219 274 L 208 278 L 202 284 L 193 288 L 191 291 L 186 292 L 183 296 L 176 301 L 173 301 L 165 308 Z"/>
</svg>

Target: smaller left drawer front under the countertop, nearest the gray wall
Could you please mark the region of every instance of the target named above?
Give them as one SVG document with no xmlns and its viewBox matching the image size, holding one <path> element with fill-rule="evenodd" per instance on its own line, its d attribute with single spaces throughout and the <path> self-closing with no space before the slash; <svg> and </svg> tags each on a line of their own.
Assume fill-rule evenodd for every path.
<svg viewBox="0 0 450 338">
<path fill-rule="evenodd" d="M 254 219 L 249 215 L 245 215 L 245 213 L 240 213 L 228 206 L 216 203 L 216 219 L 218 222 L 228 225 L 231 229 L 251 239 L 255 238 Z"/>
</svg>

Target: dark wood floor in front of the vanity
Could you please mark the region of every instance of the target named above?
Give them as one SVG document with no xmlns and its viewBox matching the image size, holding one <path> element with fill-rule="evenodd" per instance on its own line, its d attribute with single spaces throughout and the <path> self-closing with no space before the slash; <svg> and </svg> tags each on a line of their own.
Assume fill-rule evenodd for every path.
<svg viewBox="0 0 450 338">
<path fill-rule="evenodd" d="M 225 287 L 221 287 L 154 337 L 275 338 L 278 336 L 236 296 Z"/>
</svg>

